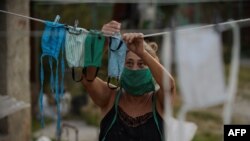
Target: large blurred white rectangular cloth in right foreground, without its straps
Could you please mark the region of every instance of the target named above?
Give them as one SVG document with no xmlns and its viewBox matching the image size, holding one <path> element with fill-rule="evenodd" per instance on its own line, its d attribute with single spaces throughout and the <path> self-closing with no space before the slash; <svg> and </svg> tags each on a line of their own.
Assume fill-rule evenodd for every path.
<svg viewBox="0 0 250 141">
<path fill-rule="evenodd" d="M 176 32 L 177 72 L 187 109 L 225 101 L 221 47 L 220 34 L 214 28 Z"/>
</svg>

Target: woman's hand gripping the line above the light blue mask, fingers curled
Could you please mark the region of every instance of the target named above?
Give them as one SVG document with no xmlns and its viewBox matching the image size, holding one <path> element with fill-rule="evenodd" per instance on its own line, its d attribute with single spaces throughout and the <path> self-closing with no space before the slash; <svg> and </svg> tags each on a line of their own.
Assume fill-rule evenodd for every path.
<svg viewBox="0 0 250 141">
<path fill-rule="evenodd" d="M 119 33 L 120 29 L 121 29 L 121 23 L 118 23 L 117 21 L 111 21 L 102 26 L 102 32 L 108 36 L 112 36 L 115 33 Z"/>
</svg>

